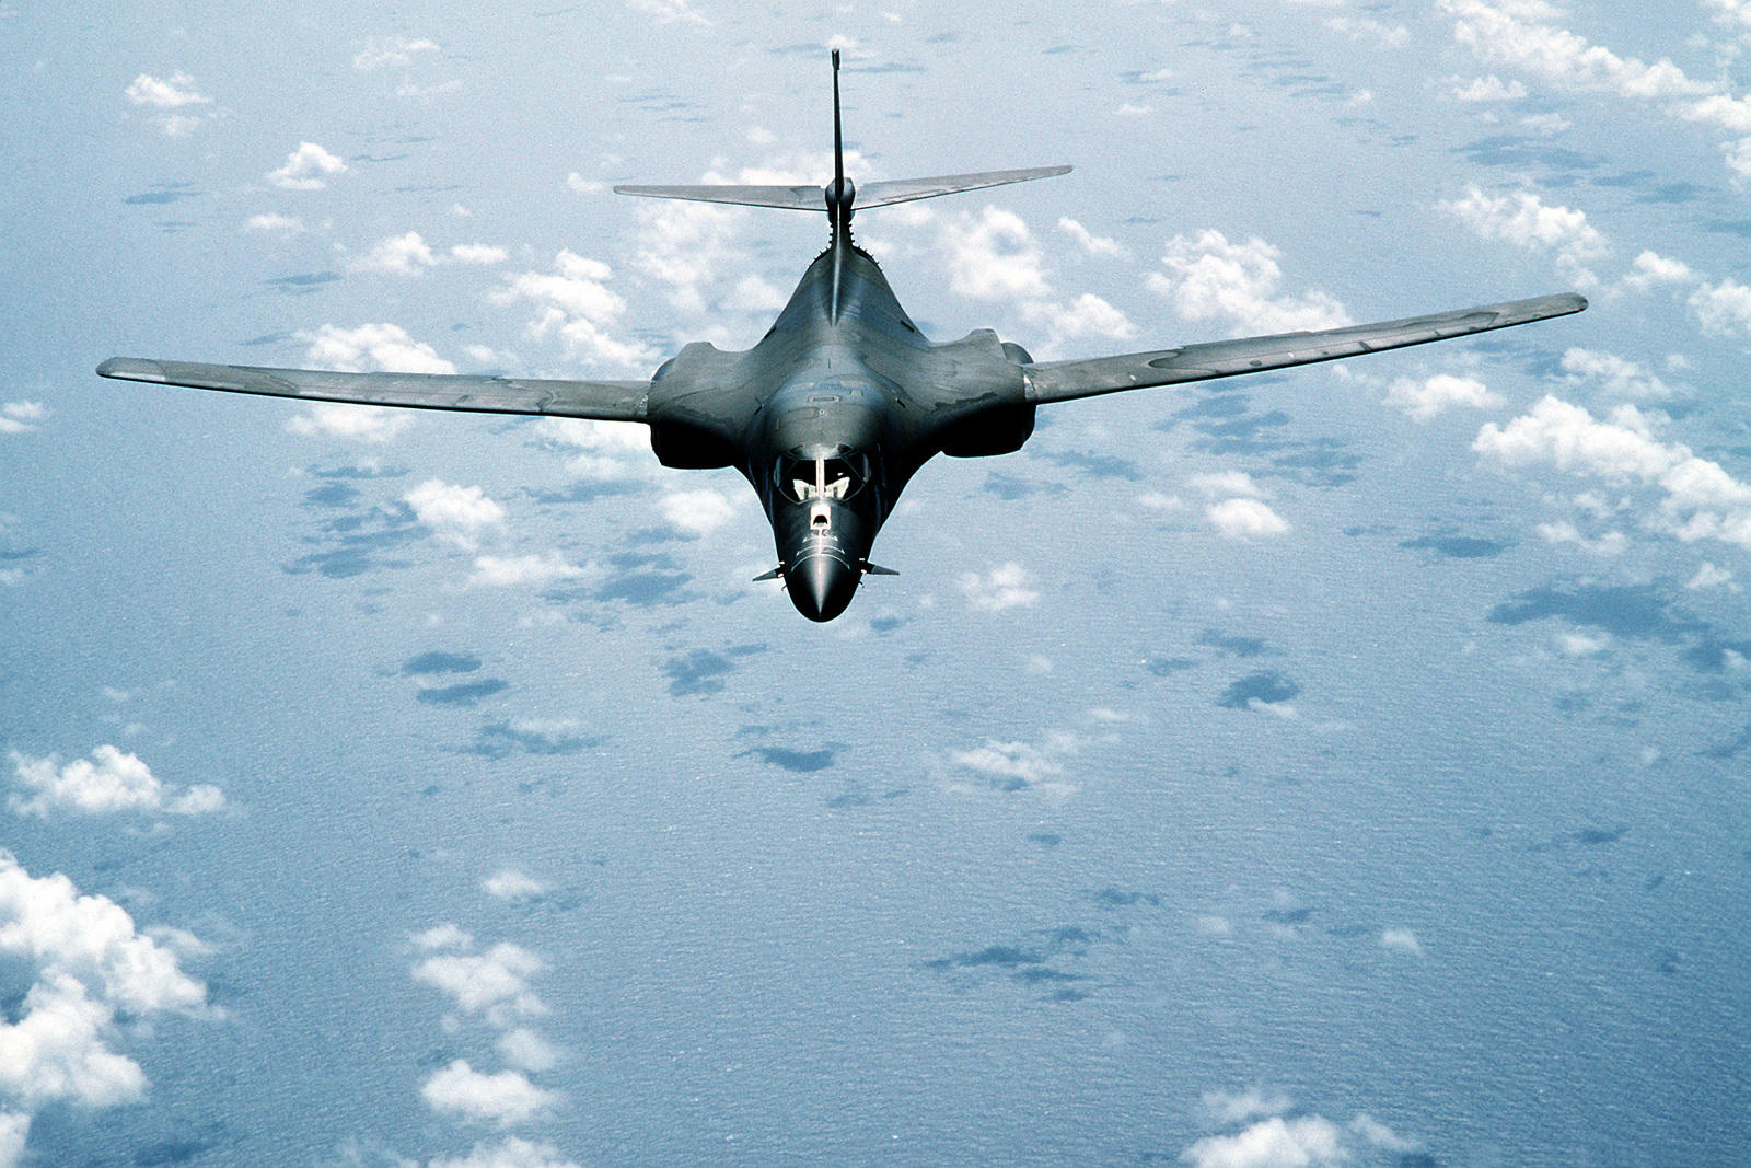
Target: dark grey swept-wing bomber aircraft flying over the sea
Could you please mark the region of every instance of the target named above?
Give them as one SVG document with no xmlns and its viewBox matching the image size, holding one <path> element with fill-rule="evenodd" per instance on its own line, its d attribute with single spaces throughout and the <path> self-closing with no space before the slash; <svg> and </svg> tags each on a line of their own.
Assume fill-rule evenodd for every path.
<svg viewBox="0 0 1751 1168">
<path fill-rule="evenodd" d="M 1021 450 L 1042 405 L 1334 361 L 1586 308 L 1581 296 L 1558 294 L 1317 333 L 1035 361 L 991 329 L 958 341 L 928 340 L 905 315 L 876 259 L 851 240 L 856 207 L 1068 170 L 902 179 L 858 189 L 844 170 L 835 51 L 833 180 L 825 187 L 615 187 L 622 194 L 826 210 L 826 250 L 802 273 L 767 334 L 746 352 L 695 341 L 648 382 L 329 373 L 137 357 L 112 357 L 98 373 L 315 401 L 643 422 L 664 466 L 734 466 L 748 478 L 777 545 L 777 567 L 758 580 L 781 580 L 797 611 L 826 622 L 846 611 L 867 573 L 895 574 L 870 562 L 870 548 L 912 475 L 939 454 L 968 459 Z"/>
</svg>

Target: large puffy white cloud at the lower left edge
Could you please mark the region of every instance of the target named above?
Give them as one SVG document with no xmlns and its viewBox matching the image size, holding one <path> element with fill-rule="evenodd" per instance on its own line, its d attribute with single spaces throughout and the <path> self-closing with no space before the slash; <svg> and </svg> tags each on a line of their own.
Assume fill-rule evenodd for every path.
<svg viewBox="0 0 1751 1168">
<path fill-rule="evenodd" d="M 16 1163 L 33 1112 L 49 1103 L 137 1103 L 147 1079 L 110 1049 L 117 1014 L 207 1014 L 207 988 L 105 897 L 67 876 L 33 877 L 0 849 L 0 956 L 30 981 L 0 1021 L 0 1163 Z M 12 1159 L 4 1159 L 11 1152 Z"/>
</svg>

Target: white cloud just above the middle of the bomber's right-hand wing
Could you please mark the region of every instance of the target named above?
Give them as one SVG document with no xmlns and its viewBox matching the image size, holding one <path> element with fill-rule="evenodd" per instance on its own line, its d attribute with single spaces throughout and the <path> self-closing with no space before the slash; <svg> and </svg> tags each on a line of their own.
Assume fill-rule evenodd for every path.
<svg viewBox="0 0 1751 1168">
<path fill-rule="evenodd" d="M 1354 324 L 1326 292 L 1282 296 L 1282 252 L 1254 236 L 1229 243 L 1220 231 L 1177 235 L 1161 263 L 1166 273 L 1149 275 L 1149 289 L 1164 296 L 1185 320 L 1220 320 L 1234 333 L 1294 333 Z"/>
</svg>

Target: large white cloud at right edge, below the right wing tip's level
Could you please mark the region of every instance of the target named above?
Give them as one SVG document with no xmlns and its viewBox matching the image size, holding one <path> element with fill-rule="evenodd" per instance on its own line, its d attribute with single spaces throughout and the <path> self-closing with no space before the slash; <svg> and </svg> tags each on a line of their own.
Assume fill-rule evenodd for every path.
<svg viewBox="0 0 1751 1168">
<path fill-rule="evenodd" d="M 1751 548 L 1751 485 L 1681 443 L 1655 436 L 1653 419 L 1625 405 L 1599 420 L 1585 408 L 1546 396 L 1506 426 L 1488 422 L 1473 450 L 1506 466 L 1553 466 L 1611 483 L 1662 492 L 1644 524 L 1684 541 L 1719 539 Z"/>
</svg>

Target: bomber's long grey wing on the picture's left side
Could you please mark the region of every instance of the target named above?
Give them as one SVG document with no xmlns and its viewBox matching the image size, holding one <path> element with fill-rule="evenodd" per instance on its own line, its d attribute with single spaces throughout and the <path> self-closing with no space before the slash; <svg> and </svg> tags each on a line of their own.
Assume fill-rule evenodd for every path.
<svg viewBox="0 0 1751 1168">
<path fill-rule="evenodd" d="M 599 422 L 644 422 L 650 382 L 536 382 L 513 376 L 443 373 L 329 373 L 261 369 L 247 364 L 194 364 L 110 357 L 102 376 L 233 394 L 268 394 L 373 406 L 462 410 L 468 413 L 548 413 Z"/>
</svg>

